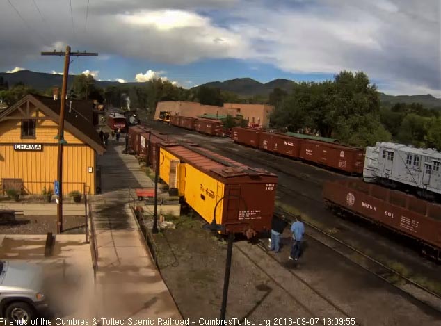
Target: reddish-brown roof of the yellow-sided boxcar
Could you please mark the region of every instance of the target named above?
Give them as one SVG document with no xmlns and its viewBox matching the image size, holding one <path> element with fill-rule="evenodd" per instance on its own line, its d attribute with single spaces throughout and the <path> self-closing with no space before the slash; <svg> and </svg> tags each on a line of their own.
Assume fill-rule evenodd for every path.
<svg viewBox="0 0 441 326">
<path fill-rule="evenodd" d="M 243 177 L 246 175 L 255 175 L 258 174 L 260 176 L 273 176 L 276 177 L 275 174 L 268 172 L 263 169 L 252 169 L 247 165 L 243 165 L 241 163 L 237 163 L 236 161 L 231 160 L 230 158 L 226 158 L 219 154 L 213 153 L 208 149 L 202 149 L 201 147 L 195 147 L 195 150 L 198 152 L 202 152 L 202 154 L 195 152 L 189 147 L 183 145 L 175 145 L 163 144 L 163 147 L 173 154 L 180 160 L 185 163 L 189 163 L 193 165 L 195 168 L 202 170 L 204 172 L 209 172 L 211 174 L 217 174 L 219 177 L 230 178 L 230 177 Z M 212 156 L 213 158 L 209 158 L 207 156 Z M 223 161 L 223 163 L 221 163 Z M 231 166 L 233 165 L 233 166 Z"/>
</svg>

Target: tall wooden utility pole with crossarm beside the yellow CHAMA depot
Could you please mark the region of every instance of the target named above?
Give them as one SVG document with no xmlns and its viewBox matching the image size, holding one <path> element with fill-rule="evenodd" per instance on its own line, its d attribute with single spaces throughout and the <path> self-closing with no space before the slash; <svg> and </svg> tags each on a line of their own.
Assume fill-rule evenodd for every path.
<svg viewBox="0 0 441 326">
<path fill-rule="evenodd" d="M 57 215 L 57 232 L 61 234 L 63 232 L 63 145 L 67 144 L 64 140 L 64 113 L 65 113 L 65 101 L 67 93 L 67 79 L 69 78 L 69 65 L 71 56 L 98 56 L 97 53 L 87 53 L 87 52 L 71 52 L 70 46 L 67 45 L 66 51 L 55 51 L 54 52 L 42 52 L 42 56 L 64 56 L 64 71 L 63 71 L 63 86 L 61 88 L 61 99 L 60 99 L 60 122 L 58 123 L 58 170 L 57 170 L 57 181 L 59 182 L 59 194 L 58 195 L 58 206 L 56 210 Z"/>
</svg>

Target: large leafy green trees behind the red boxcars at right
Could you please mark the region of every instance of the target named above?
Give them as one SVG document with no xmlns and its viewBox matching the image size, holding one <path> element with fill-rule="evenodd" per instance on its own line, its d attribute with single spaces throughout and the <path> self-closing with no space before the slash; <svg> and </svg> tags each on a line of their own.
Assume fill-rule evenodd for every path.
<svg viewBox="0 0 441 326">
<path fill-rule="evenodd" d="M 376 85 L 364 72 L 342 71 L 332 81 L 295 83 L 291 92 L 275 88 L 271 126 L 309 131 L 339 142 L 365 147 L 401 142 L 441 149 L 439 112 L 421 104 L 380 105 Z"/>
</svg>

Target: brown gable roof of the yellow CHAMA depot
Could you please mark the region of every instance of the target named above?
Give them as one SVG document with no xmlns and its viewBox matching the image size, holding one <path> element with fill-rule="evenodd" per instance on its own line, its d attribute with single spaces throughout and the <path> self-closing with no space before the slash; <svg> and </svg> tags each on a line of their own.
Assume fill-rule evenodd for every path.
<svg viewBox="0 0 441 326">
<path fill-rule="evenodd" d="M 61 101 L 55 101 L 51 97 L 31 94 L 26 95 L 5 111 L 0 113 L 0 121 L 3 119 L 3 117 L 10 115 L 10 113 L 17 110 L 17 108 L 26 103 L 26 101 L 31 101 L 42 111 L 42 113 L 45 113 L 47 117 L 50 117 L 51 120 L 54 120 L 54 122 L 58 124 L 60 120 Z M 85 102 L 86 101 L 72 101 L 73 110 L 71 112 L 69 112 L 69 104 L 67 103 L 65 107 L 65 130 L 72 133 L 72 135 L 77 137 L 86 145 L 89 145 L 95 149 L 98 154 L 103 154 L 106 151 L 106 148 L 102 144 L 99 134 L 92 124 L 92 103 L 90 103 L 90 108 L 88 108 L 88 104 Z M 88 113 L 89 111 L 90 113 Z"/>
</svg>

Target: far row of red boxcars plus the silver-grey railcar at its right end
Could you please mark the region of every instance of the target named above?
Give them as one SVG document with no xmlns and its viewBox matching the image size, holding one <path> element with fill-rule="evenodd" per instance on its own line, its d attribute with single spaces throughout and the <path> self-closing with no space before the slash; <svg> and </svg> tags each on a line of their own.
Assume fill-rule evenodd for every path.
<svg viewBox="0 0 441 326">
<path fill-rule="evenodd" d="M 218 120 L 172 115 L 170 124 L 210 136 L 227 135 Z M 412 191 L 425 199 L 441 200 L 441 153 L 435 149 L 377 142 L 364 151 L 331 138 L 298 133 L 269 133 L 246 127 L 233 127 L 230 132 L 232 140 L 241 145 L 362 175 L 366 182 Z"/>
</svg>

